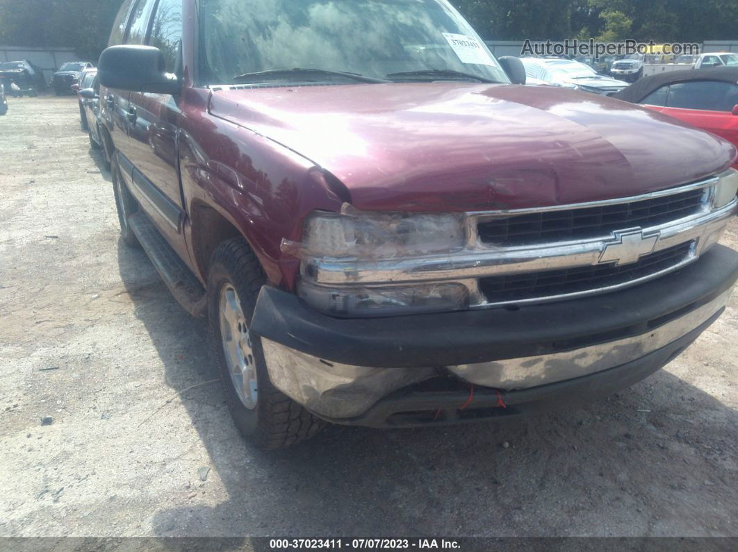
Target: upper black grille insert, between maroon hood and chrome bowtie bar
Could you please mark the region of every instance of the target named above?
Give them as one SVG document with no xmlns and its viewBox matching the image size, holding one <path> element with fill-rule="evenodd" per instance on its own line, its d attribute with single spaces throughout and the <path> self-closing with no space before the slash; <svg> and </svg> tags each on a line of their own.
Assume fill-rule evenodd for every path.
<svg viewBox="0 0 738 552">
<path fill-rule="evenodd" d="M 483 242 L 511 247 L 544 242 L 586 240 L 628 228 L 649 228 L 697 214 L 703 206 L 704 189 L 630 203 L 566 209 L 481 222 Z"/>
</svg>

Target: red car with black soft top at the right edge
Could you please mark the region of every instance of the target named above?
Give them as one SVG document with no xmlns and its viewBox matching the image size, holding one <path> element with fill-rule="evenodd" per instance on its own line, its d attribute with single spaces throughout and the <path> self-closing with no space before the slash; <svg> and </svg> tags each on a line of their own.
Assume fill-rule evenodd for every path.
<svg viewBox="0 0 738 552">
<path fill-rule="evenodd" d="M 661 73 L 614 97 L 661 111 L 738 146 L 738 67 Z"/>
</svg>

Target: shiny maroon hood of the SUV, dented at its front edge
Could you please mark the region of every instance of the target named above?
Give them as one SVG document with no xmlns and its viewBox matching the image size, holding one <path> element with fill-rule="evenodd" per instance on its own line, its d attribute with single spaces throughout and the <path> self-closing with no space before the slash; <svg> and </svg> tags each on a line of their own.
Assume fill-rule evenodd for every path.
<svg viewBox="0 0 738 552">
<path fill-rule="evenodd" d="M 735 148 L 627 102 L 545 86 L 413 83 L 214 91 L 210 112 L 339 178 L 359 209 L 517 209 L 637 195 Z"/>
</svg>

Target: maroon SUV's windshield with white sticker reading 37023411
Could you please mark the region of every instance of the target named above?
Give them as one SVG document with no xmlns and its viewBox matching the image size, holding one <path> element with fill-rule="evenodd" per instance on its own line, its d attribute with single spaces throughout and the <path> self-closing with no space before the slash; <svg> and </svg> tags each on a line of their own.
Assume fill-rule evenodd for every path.
<svg viewBox="0 0 738 552">
<path fill-rule="evenodd" d="M 410 71 L 456 71 L 509 83 L 489 49 L 446 0 L 201 0 L 200 80 L 281 69 L 321 69 L 384 79 Z M 391 80 L 474 80 L 452 74 Z M 264 82 L 356 83 L 293 71 Z M 249 80 L 258 83 L 260 80 Z"/>
</svg>

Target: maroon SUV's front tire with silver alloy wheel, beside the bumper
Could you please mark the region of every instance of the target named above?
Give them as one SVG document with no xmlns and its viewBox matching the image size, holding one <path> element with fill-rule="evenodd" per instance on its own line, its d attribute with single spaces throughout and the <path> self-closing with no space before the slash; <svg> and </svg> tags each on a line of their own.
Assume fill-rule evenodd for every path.
<svg viewBox="0 0 738 552">
<path fill-rule="evenodd" d="M 258 447 L 275 450 L 316 435 L 325 427 L 325 422 L 272 385 L 266 370 L 261 339 L 248 333 L 247 326 L 251 323 L 256 298 L 265 282 L 261 265 L 246 240 L 239 237 L 218 245 L 210 261 L 207 277 L 208 338 L 210 354 L 218 366 L 221 387 L 235 426 L 241 435 Z M 231 295 L 231 291 L 235 293 Z M 232 301 L 227 301 L 229 297 Z M 249 369 L 246 381 L 252 383 L 249 386 L 252 392 L 244 399 L 236 391 L 235 379 L 226 360 L 224 336 L 233 334 L 228 326 L 221 324 L 224 321 L 221 301 L 237 304 L 241 308 L 238 319 L 245 323 L 244 332 L 235 329 L 244 348 L 234 345 L 244 355 L 245 366 Z M 249 351 L 250 354 L 246 355 Z M 244 387 L 241 383 L 241 389 Z"/>
</svg>

